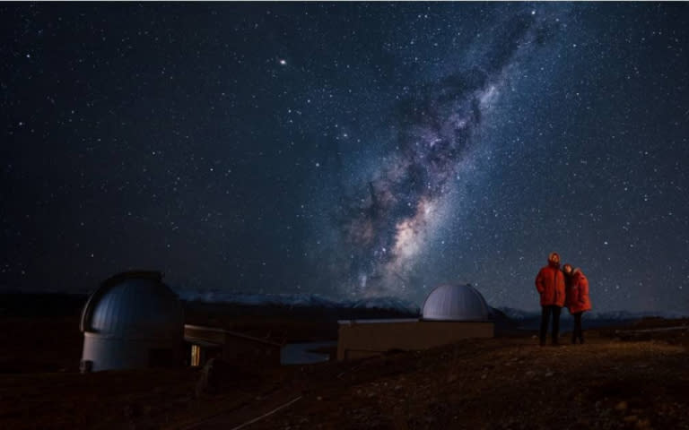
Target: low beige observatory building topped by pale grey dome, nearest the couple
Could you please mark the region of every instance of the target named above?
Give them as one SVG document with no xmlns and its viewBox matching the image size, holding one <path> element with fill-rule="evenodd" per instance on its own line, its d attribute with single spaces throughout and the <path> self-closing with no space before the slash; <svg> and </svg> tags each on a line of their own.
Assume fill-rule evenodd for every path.
<svg viewBox="0 0 689 430">
<path fill-rule="evenodd" d="M 427 349 L 468 338 L 492 338 L 494 324 L 489 315 L 484 297 L 471 285 L 440 285 L 423 302 L 420 319 L 339 321 L 337 359 Z"/>
</svg>

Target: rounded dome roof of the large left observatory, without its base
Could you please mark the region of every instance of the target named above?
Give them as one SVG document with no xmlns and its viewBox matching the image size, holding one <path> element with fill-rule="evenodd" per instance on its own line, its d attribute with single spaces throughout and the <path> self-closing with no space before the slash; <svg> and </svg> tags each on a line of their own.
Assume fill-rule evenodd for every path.
<svg viewBox="0 0 689 430">
<path fill-rule="evenodd" d="M 127 271 L 103 281 L 83 307 L 81 331 L 126 338 L 181 337 L 182 306 L 158 271 Z"/>
</svg>

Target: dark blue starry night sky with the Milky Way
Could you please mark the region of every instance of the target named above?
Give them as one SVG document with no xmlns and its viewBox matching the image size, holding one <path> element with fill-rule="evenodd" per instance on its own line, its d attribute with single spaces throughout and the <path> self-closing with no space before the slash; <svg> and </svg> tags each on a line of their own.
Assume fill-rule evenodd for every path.
<svg viewBox="0 0 689 430">
<path fill-rule="evenodd" d="M 689 4 L 0 4 L 0 289 L 689 309 Z"/>
</svg>

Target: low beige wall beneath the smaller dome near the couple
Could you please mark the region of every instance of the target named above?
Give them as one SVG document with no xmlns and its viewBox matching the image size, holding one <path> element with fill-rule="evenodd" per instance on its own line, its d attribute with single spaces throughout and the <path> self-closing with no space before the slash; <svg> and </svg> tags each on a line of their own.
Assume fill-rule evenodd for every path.
<svg viewBox="0 0 689 430">
<path fill-rule="evenodd" d="M 391 350 L 427 349 L 468 338 L 492 338 L 491 322 L 410 321 L 341 322 L 337 359 L 371 357 Z"/>
</svg>

